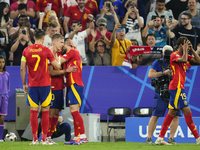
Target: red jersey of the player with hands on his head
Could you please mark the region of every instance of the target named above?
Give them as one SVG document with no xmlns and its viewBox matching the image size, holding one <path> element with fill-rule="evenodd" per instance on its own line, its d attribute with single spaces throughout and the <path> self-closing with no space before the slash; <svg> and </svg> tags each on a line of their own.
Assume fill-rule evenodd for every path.
<svg viewBox="0 0 200 150">
<path fill-rule="evenodd" d="M 175 90 L 177 88 L 185 89 L 185 72 L 186 72 L 186 63 L 177 62 L 178 58 L 182 55 L 176 51 L 170 56 L 170 66 L 172 69 L 172 80 L 169 84 L 170 90 Z M 188 61 L 190 61 L 192 56 L 188 55 Z"/>
</svg>

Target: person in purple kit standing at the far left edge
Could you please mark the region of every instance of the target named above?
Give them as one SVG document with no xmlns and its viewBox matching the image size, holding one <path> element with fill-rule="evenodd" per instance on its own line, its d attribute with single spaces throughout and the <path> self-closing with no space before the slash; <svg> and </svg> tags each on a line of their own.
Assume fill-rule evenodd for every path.
<svg viewBox="0 0 200 150">
<path fill-rule="evenodd" d="M 8 111 L 8 91 L 10 75 L 6 71 L 5 58 L 0 55 L 0 142 L 3 142 L 4 117 Z"/>
</svg>

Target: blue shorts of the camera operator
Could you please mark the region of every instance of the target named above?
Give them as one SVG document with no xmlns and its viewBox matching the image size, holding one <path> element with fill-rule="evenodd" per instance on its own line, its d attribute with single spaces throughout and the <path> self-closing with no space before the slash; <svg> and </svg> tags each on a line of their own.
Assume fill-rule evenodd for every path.
<svg viewBox="0 0 200 150">
<path fill-rule="evenodd" d="M 152 116 L 164 117 L 169 103 L 163 101 L 159 93 L 155 93 Z M 181 116 L 181 110 L 177 111 L 176 116 Z"/>
</svg>

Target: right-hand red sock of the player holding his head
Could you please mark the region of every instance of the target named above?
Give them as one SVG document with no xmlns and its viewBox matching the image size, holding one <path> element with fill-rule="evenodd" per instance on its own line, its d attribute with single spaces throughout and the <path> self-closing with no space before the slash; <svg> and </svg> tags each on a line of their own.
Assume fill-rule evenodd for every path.
<svg viewBox="0 0 200 150">
<path fill-rule="evenodd" d="M 192 119 L 192 113 L 185 114 L 184 116 L 185 116 L 185 122 L 187 123 L 187 126 L 190 128 L 190 131 L 194 135 L 195 139 L 199 138 L 199 133 Z"/>
</svg>

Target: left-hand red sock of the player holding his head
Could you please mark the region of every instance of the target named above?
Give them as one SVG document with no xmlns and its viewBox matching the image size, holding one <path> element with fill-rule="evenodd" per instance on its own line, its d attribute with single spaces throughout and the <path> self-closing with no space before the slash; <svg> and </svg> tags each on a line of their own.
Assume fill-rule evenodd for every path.
<svg viewBox="0 0 200 150">
<path fill-rule="evenodd" d="M 173 118 L 174 116 L 167 114 L 165 120 L 163 121 L 159 137 L 164 138 L 165 133 L 167 132 L 167 129 L 169 128 L 169 125 L 171 124 Z"/>
</svg>

